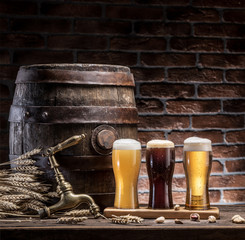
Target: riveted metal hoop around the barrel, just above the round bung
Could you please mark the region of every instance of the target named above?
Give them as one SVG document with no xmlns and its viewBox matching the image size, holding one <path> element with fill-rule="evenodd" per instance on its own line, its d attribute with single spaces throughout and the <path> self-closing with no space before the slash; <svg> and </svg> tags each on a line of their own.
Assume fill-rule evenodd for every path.
<svg viewBox="0 0 245 240">
<path fill-rule="evenodd" d="M 137 124 L 138 112 L 136 107 L 12 105 L 9 122 Z"/>
</svg>

